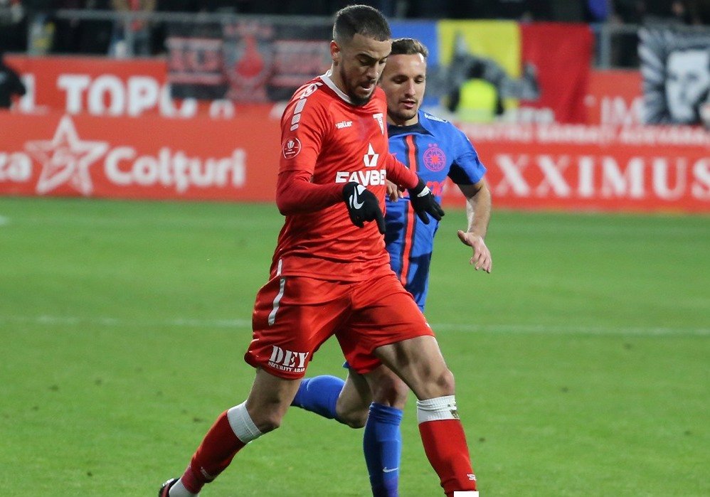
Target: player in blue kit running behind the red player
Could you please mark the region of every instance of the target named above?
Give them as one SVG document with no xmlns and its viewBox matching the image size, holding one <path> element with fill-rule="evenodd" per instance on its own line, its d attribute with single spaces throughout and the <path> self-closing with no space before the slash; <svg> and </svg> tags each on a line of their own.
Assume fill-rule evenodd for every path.
<svg viewBox="0 0 710 497">
<path fill-rule="evenodd" d="M 451 178 L 467 201 L 467 230 L 457 235 L 472 247 L 470 263 L 491 272 L 491 255 L 484 242 L 491 197 L 486 171 L 471 142 L 460 129 L 420 110 L 426 85 L 428 50 L 417 40 L 393 41 L 380 85 L 387 97 L 389 149 L 418 175 L 441 201 L 446 178 Z M 393 185 L 385 213 L 385 242 L 391 267 L 424 310 L 429 265 L 438 222 L 424 224 Z M 292 403 L 305 410 L 347 424 L 365 427 L 363 449 L 374 497 L 398 495 L 401 424 L 408 387 L 386 366 L 359 375 L 349 370 L 345 381 L 323 375 L 304 378 Z"/>
</svg>

